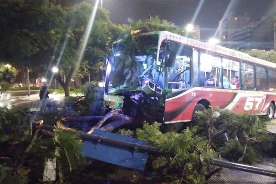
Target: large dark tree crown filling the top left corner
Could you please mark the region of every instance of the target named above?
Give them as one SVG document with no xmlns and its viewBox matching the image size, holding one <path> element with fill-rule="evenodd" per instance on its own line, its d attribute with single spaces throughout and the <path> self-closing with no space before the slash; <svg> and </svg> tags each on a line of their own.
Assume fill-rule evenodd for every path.
<svg viewBox="0 0 276 184">
<path fill-rule="evenodd" d="M 47 0 L 0 3 L 0 60 L 17 68 L 37 68 L 51 59 L 64 21 L 60 7 Z M 25 81 L 25 80 L 23 80 Z"/>
</svg>

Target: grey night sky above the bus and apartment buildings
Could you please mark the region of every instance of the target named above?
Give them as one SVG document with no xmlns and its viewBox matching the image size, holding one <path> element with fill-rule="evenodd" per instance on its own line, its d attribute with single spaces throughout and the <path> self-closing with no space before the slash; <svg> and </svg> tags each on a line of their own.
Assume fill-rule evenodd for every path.
<svg viewBox="0 0 276 184">
<path fill-rule="evenodd" d="M 159 15 L 162 19 L 182 26 L 191 22 L 200 0 L 103 0 L 103 7 L 110 12 L 116 24 L 128 24 L 127 18 L 148 19 Z M 200 37 L 206 41 L 212 37 L 228 5 L 228 12 L 247 13 L 252 19 L 276 10 L 276 0 L 204 0 L 194 24 L 200 25 Z M 100 6 L 100 4 L 99 4 Z"/>
</svg>

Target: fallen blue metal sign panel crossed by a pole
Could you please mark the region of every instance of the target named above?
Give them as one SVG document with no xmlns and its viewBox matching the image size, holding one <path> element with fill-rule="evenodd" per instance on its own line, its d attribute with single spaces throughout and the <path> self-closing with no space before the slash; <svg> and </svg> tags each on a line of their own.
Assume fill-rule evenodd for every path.
<svg viewBox="0 0 276 184">
<path fill-rule="evenodd" d="M 149 145 L 149 142 L 146 141 L 141 141 L 135 138 L 130 138 L 98 129 L 94 130 L 92 134 L 130 143 Z M 137 151 L 133 148 L 130 149 L 123 146 L 103 142 L 97 143 L 96 141 L 92 140 L 83 141 L 82 152 L 86 157 L 137 170 L 144 170 L 148 158 L 147 153 L 139 152 L 139 150 Z"/>
</svg>

